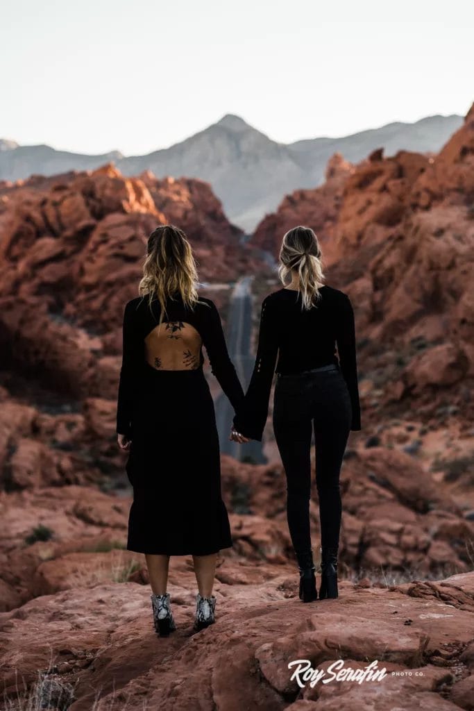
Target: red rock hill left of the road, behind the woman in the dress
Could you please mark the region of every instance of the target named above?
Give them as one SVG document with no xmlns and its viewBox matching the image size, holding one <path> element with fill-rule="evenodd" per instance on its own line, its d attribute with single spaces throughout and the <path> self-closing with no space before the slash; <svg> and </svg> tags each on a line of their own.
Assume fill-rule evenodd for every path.
<svg viewBox="0 0 474 711">
<path fill-rule="evenodd" d="M 257 268 L 208 183 L 124 178 L 108 165 L 33 176 L 3 186 L 0 199 L 6 361 L 15 370 L 34 366 L 45 384 L 75 397 L 111 397 L 123 306 L 137 295 L 156 225 L 174 222 L 188 232 L 201 279 L 229 281 Z"/>
</svg>

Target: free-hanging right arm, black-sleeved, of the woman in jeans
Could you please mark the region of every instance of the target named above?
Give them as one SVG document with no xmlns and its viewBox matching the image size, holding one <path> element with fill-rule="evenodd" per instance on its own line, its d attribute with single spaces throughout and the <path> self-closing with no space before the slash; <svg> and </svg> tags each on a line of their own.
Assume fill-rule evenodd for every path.
<svg viewBox="0 0 474 711">
<path fill-rule="evenodd" d="M 343 295 L 342 310 L 338 318 L 336 333 L 340 369 L 345 382 L 348 384 L 350 402 L 352 405 L 352 423 L 350 429 L 362 429 L 360 424 L 360 400 L 357 380 L 357 358 L 355 349 L 355 320 L 354 310 L 349 296 Z"/>
</svg>

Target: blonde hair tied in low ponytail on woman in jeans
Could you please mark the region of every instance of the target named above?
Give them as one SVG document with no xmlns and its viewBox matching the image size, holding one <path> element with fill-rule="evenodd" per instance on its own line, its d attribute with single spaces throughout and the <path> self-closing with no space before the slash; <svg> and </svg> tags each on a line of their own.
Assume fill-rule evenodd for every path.
<svg viewBox="0 0 474 711">
<path fill-rule="evenodd" d="M 279 254 L 278 274 L 285 285 L 286 277 L 292 270 L 298 272 L 298 290 L 301 293 L 301 309 L 311 309 L 321 300 L 319 292 L 323 287 L 323 264 L 318 237 L 309 227 L 293 228 L 286 232 Z"/>
</svg>

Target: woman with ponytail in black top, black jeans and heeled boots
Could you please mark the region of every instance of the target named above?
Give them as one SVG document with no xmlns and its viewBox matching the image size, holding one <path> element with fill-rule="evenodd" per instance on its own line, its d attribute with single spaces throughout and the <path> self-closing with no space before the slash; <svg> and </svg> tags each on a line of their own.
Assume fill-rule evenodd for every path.
<svg viewBox="0 0 474 711">
<path fill-rule="evenodd" d="M 279 259 L 281 282 L 291 275 L 291 283 L 262 302 L 257 360 L 230 439 L 262 442 L 276 365 L 274 432 L 286 473 L 299 595 L 311 602 L 318 599 L 309 518 L 313 432 L 321 523 L 319 598 L 338 597 L 340 469 L 350 430 L 361 429 L 354 312 L 347 294 L 323 284 L 321 250 L 311 228 L 286 232 Z"/>
</svg>

